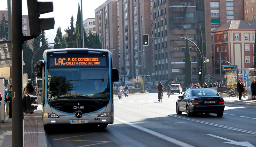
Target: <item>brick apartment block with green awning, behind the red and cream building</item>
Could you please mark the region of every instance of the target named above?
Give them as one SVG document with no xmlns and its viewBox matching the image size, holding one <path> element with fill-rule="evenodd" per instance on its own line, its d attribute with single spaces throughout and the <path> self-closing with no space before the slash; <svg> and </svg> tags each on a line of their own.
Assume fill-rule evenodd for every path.
<svg viewBox="0 0 256 147">
<path fill-rule="evenodd" d="M 211 31 L 223 26 L 231 20 L 244 20 L 244 1 L 243 0 L 205 0 L 205 35 L 206 58 L 213 59 L 213 35 Z M 212 51 L 212 54 L 211 54 Z M 215 71 L 214 61 L 206 63 L 207 74 Z M 214 76 L 214 75 L 212 75 Z M 216 75 L 218 77 L 219 75 Z"/>
</svg>

